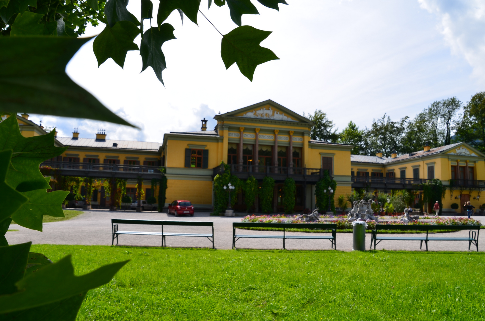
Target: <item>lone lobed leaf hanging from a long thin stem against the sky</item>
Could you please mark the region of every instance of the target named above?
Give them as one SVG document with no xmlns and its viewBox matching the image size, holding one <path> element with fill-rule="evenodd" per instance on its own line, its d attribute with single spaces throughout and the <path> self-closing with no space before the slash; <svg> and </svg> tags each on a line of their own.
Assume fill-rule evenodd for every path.
<svg viewBox="0 0 485 321">
<path fill-rule="evenodd" d="M 221 41 L 221 57 L 226 69 L 236 63 L 241 73 L 253 81 L 256 66 L 279 59 L 273 51 L 259 46 L 271 31 L 251 26 L 238 27 L 224 35 Z"/>
</svg>

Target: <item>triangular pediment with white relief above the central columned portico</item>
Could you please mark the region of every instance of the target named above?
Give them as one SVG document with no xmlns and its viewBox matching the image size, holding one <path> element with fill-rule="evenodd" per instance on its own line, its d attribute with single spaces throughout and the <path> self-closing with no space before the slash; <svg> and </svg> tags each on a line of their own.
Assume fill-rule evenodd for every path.
<svg viewBox="0 0 485 321">
<path fill-rule="evenodd" d="M 307 118 L 289 110 L 288 108 L 274 102 L 271 99 L 259 102 L 257 104 L 240 108 L 232 112 L 226 112 L 221 115 L 216 115 L 214 118 L 219 117 L 241 117 L 251 118 L 259 120 L 275 120 L 275 121 L 288 121 L 312 124 L 313 122 Z"/>
</svg>

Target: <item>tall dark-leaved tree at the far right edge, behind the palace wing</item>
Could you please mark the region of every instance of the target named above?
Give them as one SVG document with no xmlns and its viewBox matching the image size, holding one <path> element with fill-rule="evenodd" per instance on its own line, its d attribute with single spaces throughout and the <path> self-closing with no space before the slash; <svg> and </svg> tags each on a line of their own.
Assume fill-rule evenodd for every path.
<svg viewBox="0 0 485 321">
<path fill-rule="evenodd" d="M 485 92 L 473 95 L 456 128 L 456 139 L 485 152 Z"/>
</svg>

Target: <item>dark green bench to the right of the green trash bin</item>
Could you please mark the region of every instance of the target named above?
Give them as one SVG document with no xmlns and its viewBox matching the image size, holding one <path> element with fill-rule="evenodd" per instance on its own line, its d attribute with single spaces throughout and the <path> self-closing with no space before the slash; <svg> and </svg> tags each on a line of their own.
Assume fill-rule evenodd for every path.
<svg viewBox="0 0 485 321">
<path fill-rule="evenodd" d="M 420 236 L 377 236 L 379 230 L 396 230 L 396 231 L 426 231 L 426 235 L 421 234 Z M 429 236 L 429 231 L 436 230 L 470 230 L 469 237 L 435 237 Z M 399 233 L 399 232 L 398 232 Z M 422 249 L 423 242 L 426 244 L 426 251 L 428 251 L 428 241 L 468 241 L 468 249 L 470 249 L 471 244 L 477 247 L 478 252 L 478 234 L 480 233 L 480 225 L 385 225 L 376 224 L 375 229 L 372 230 L 371 237 L 371 249 L 372 242 L 375 246 L 383 240 L 394 240 L 394 241 L 421 241 L 420 249 Z"/>
</svg>

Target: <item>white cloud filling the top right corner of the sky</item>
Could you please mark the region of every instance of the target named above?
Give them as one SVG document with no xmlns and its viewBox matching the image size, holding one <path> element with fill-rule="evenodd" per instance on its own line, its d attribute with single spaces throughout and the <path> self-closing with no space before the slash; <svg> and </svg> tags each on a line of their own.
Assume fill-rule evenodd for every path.
<svg viewBox="0 0 485 321">
<path fill-rule="evenodd" d="M 452 53 L 463 56 L 473 67 L 473 75 L 485 84 L 485 1 L 418 1 L 437 16 L 438 29 Z"/>
</svg>

